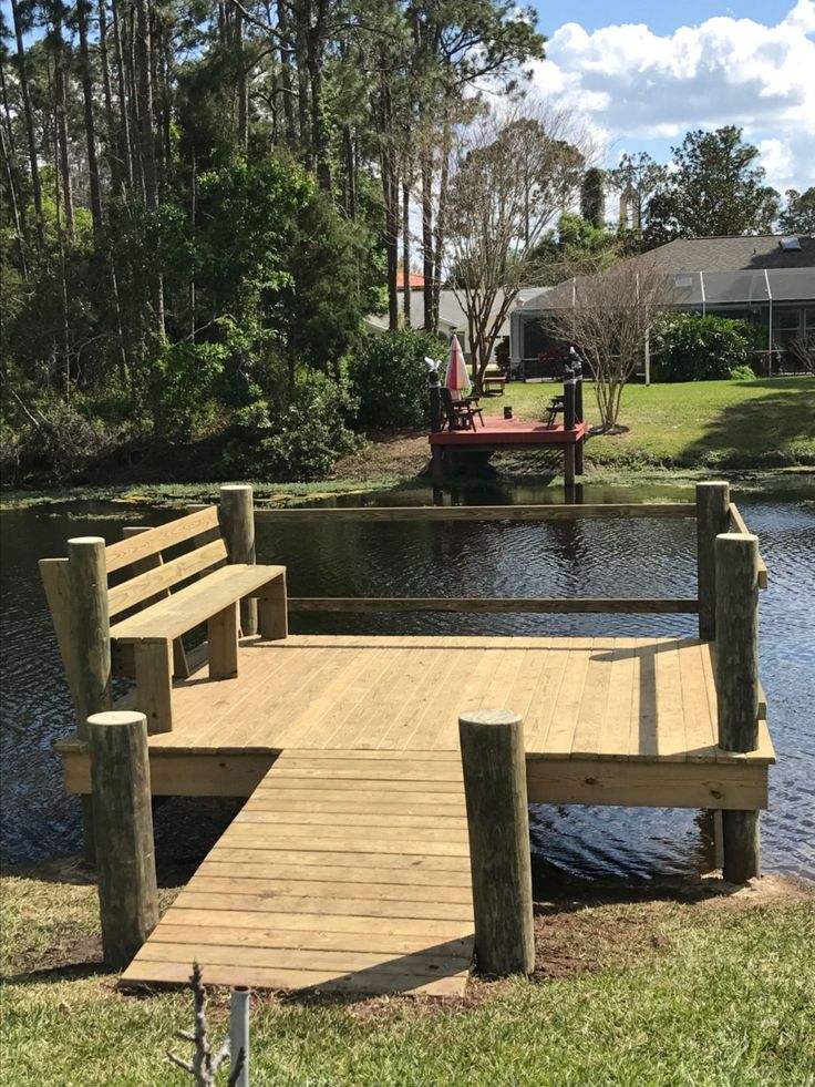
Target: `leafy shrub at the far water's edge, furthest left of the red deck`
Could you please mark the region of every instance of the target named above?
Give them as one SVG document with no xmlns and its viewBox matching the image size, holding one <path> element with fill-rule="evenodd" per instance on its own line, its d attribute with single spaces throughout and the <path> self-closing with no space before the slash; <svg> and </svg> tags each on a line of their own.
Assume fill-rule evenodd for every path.
<svg viewBox="0 0 815 1087">
<path fill-rule="evenodd" d="M 271 427 L 265 425 L 268 420 L 258 403 L 240 413 L 243 438 L 227 447 L 224 466 L 279 482 L 321 479 L 355 448 L 357 435 L 348 425 L 355 410 L 357 400 L 343 382 L 307 370 L 298 376 L 288 408 Z"/>
</svg>

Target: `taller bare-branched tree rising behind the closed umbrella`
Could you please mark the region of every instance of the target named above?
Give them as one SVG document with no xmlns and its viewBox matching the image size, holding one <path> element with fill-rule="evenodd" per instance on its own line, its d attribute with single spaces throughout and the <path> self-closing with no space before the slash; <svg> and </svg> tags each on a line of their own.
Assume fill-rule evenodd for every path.
<svg viewBox="0 0 815 1087">
<path fill-rule="evenodd" d="M 466 126 L 453 152 L 447 252 L 476 391 L 520 288 L 553 281 L 538 243 L 580 191 L 586 155 L 571 136 L 567 114 L 522 104 Z"/>
</svg>

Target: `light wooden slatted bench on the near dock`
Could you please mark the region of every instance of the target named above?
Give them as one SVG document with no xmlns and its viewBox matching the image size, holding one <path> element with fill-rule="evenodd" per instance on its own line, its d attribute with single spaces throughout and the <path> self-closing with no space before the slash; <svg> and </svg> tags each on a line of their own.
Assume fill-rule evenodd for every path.
<svg viewBox="0 0 815 1087">
<path fill-rule="evenodd" d="M 192 550 L 165 561 L 165 552 L 190 543 Z M 183 635 L 206 624 L 210 679 L 227 679 L 238 673 L 241 601 L 257 599 L 262 638 L 287 635 L 286 567 L 227 564 L 227 560 L 217 506 L 156 529 L 131 530 L 124 540 L 104 548 L 109 580 L 118 572 L 125 574 L 114 578 L 116 584 L 109 581 L 106 585 L 103 625 L 109 625 L 111 671 L 135 679 L 135 708 L 147 717 L 151 734 L 173 728 L 173 674 L 182 678 L 187 674 Z M 71 576 L 70 563 L 69 558 L 44 558 L 40 572 L 82 725 L 79 707 L 83 699 L 78 691 L 85 663 L 76 659 L 74 635 L 81 607 L 75 601 L 76 578 Z"/>
</svg>

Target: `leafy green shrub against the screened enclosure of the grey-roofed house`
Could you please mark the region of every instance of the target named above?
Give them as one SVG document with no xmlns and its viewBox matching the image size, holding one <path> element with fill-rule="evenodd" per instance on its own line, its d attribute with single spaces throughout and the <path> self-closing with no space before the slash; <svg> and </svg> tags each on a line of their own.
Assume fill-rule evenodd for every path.
<svg viewBox="0 0 815 1087">
<path fill-rule="evenodd" d="M 756 328 L 746 321 L 699 314 L 662 314 L 653 329 L 660 381 L 715 381 L 750 368 Z M 751 370 L 752 373 L 752 370 Z"/>
</svg>

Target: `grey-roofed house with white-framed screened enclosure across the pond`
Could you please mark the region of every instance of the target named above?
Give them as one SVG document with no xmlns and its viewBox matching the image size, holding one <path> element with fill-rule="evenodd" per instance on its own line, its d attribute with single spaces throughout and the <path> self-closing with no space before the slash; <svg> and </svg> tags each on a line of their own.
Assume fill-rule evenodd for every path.
<svg viewBox="0 0 815 1087">
<path fill-rule="evenodd" d="M 772 360 L 788 361 L 791 340 L 815 330 L 815 238 L 679 238 L 632 260 L 648 275 L 664 276 L 667 308 L 759 324 L 766 370 Z M 546 314 L 575 304 L 577 281 L 536 293 L 512 315 L 510 368 L 518 377 L 549 376 L 555 343 Z"/>
</svg>

